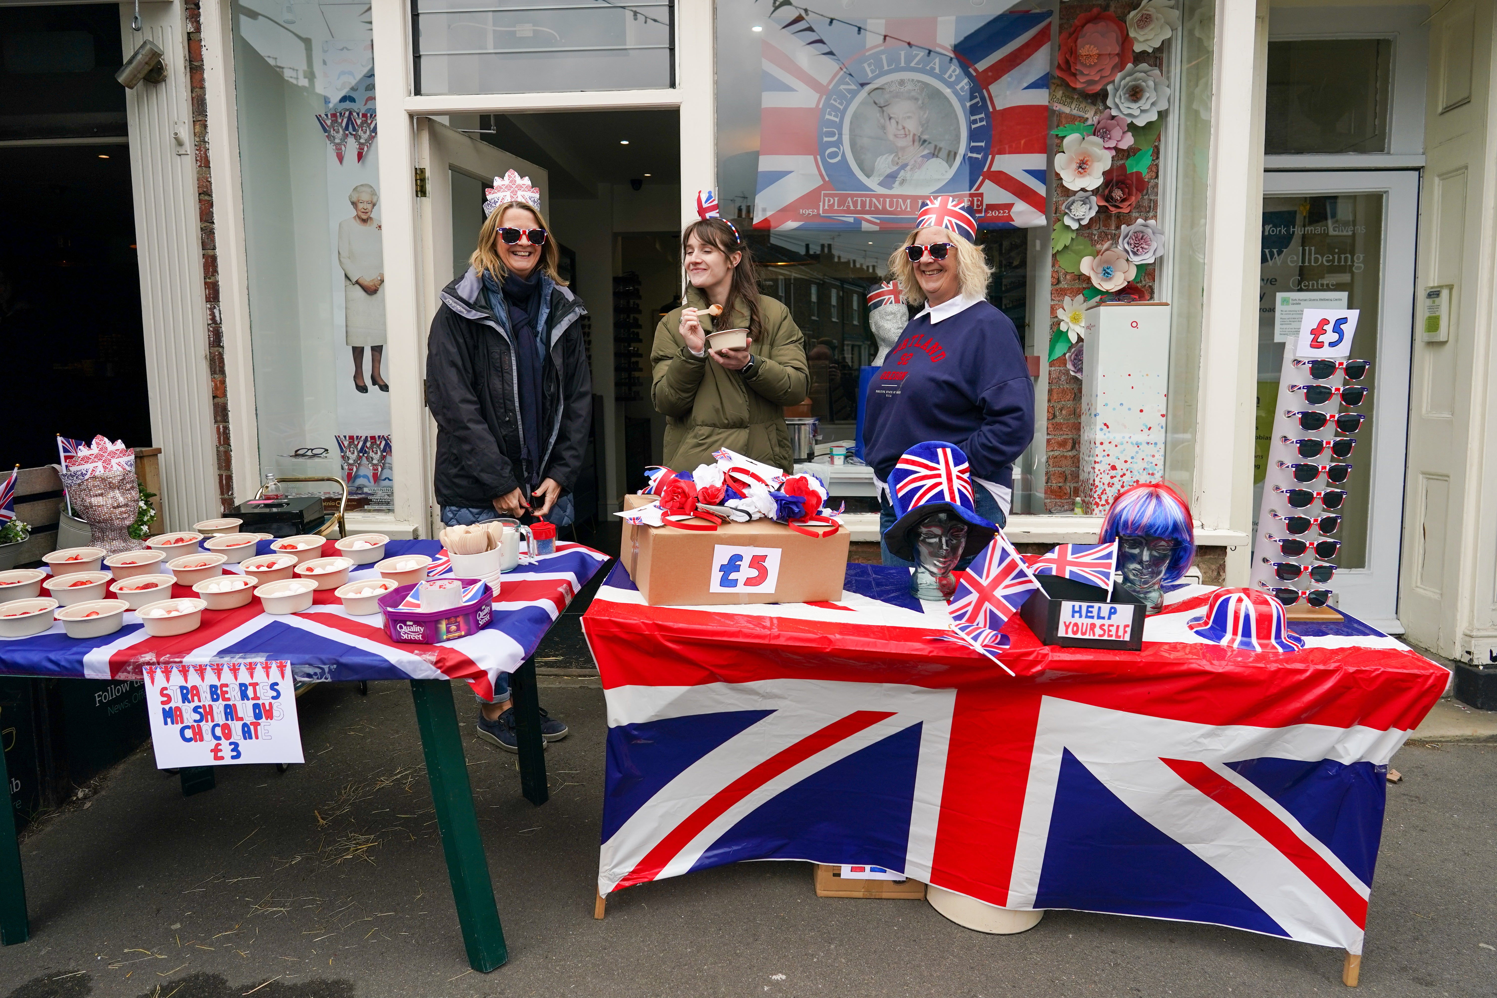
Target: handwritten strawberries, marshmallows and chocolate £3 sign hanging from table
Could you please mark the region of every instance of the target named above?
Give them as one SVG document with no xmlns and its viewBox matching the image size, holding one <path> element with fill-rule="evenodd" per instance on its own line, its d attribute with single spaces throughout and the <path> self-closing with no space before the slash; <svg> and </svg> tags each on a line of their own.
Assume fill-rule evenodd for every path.
<svg viewBox="0 0 1497 998">
<path fill-rule="evenodd" d="M 290 663 L 145 666 L 157 769 L 299 763 Z"/>
</svg>

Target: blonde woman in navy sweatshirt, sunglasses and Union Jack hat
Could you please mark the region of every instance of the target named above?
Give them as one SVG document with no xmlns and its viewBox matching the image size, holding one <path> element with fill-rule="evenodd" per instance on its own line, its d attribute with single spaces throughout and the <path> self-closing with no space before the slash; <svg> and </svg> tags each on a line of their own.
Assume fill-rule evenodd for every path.
<svg viewBox="0 0 1497 998">
<path fill-rule="evenodd" d="M 879 479 L 880 533 L 894 524 L 885 482 L 900 455 L 927 440 L 961 447 L 978 513 L 1007 521 L 1013 461 L 1034 435 L 1034 385 L 1013 323 L 987 301 L 991 268 L 976 235 L 960 199 L 936 198 L 889 257 L 904 299 L 925 308 L 868 386 L 862 438 Z M 883 564 L 910 563 L 883 546 Z"/>
</svg>

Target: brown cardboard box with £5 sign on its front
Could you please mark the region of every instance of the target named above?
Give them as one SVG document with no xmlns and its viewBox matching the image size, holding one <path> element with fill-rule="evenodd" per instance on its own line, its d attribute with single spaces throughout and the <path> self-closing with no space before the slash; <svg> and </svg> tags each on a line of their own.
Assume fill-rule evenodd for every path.
<svg viewBox="0 0 1497 998">
<path fill-rule="evenodd" d="M 650 495 L 626 495 L 624 509 Z M 852 531 L 807 537 L 769 519 L 717 530 L 624 524 L 620 545 L 629 578 L 650 606 L 728 606 L 838 600 Z"/>
</svg>

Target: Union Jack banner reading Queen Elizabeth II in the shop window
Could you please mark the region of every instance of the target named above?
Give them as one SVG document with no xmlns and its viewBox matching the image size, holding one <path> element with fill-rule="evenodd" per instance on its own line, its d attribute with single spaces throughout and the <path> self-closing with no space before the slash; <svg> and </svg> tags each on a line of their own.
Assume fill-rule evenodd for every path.
<svg viewBox="0 0 1497 998">
<path fill-rule="evenodd" d="M 982 229 L 1045 221 L 1048 12 L 763 25 L 756 229 L 909 229 L 931 195 Z M 924 111 L 912 133 L 901 102 Z"/>
</svg>

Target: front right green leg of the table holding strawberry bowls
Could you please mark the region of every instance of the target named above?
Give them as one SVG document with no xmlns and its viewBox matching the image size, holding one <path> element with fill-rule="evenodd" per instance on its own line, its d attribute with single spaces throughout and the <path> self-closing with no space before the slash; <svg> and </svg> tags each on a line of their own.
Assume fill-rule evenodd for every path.
<svg viewBox="0 0 1497 998">
<path fill-rule="evenodd" d="M 416 724 L 421 747 L 427 754 L 427 780 L 431 781 L 431 803 L 437 811 L 442 850 L 448 857 L 448 878 L 452 899 L 463 926 L 463 946 L 469 967 L 487 974 L 509 959 L 504 929 L 499 923 L 494 904 L 494 881 L 488 875 L 484 839 L 473 809 L 473 786 L 467 778 L 467 757 L 463 754 L 463 733 L 452 706 L 452 687 L 446 679 L 412 679 L 410 696 L 416 702 Z"/>
</svg>

